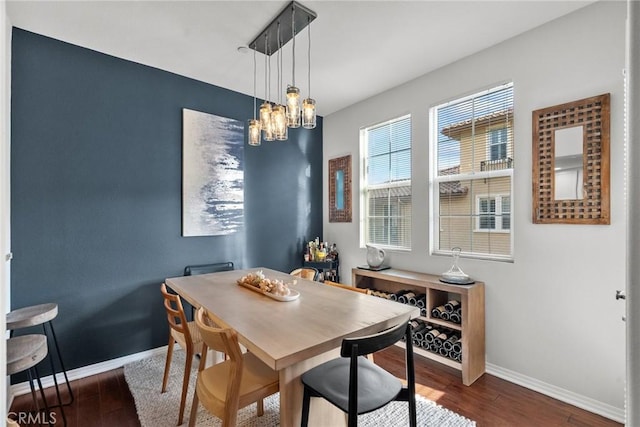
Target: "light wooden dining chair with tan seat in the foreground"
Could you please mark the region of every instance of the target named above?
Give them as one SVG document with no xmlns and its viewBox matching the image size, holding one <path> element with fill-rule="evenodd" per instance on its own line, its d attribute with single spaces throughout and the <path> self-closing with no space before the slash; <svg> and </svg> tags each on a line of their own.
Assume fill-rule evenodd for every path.
<svg viewBox="0 0 640 427">
<path fill-rule="evenodd" d="M 189 427 L 195 426 L 198 403 L 222 420 L 222 427 L 236 425 L 238 410 L 257 402 L 258 416 L 264 414 L 263 399 L 280 389 L 278 372 L 253 353 L 242 353 L 236 331 L 212 313 L 199 308 L 196 325 L 204 340 L 203 356 L 198 368 Z M 225 352 L 228 360 L 206 366 L 207 350 Z"/>
</svg>

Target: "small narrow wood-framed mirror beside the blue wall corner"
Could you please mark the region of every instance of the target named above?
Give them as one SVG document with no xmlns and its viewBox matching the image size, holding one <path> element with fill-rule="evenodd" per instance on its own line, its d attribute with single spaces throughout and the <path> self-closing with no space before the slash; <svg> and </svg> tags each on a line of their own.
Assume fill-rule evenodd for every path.
<svg viewBox="0 0 640 427">
<path fill-rule="evenodd" d="M 351 222 L 351 154 L 329 160 L 329 222 Z"/>
</svg>

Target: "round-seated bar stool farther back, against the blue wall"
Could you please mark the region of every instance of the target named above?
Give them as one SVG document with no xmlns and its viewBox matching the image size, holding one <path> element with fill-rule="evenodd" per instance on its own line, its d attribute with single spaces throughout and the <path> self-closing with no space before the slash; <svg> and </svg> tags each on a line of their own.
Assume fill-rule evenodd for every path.
<svg viewBox="0 0 640 427">
<path fill-rule="evenodd" d="M 32 305 L 29 307 L 19 308 L 17 310 L 13 310 L 10 313 L 7 313 L 7 330 L 11 331 L 10 336 L 13 337 L 13 333 L 17 329 L 28 328 L 31 326 L 42 325 L 42 330 L 44 331 L 45 336 L 49 336 L 47 333 L 47 325 L 49 325 L 49 331 L 51 332 L 51 338 L 53 344 L 56 349 L 56 354 L 58 355 L 58 362 L 60 363 L 60 369 L 64 374 L 64 380 L 67 383 L 67 390 L 69 392 L 69 401 L 61 403 L 62 405 L 71 405 L 73 403 L 73 390 L 71 390 L 71 384 L 69 383 L 69 377 L 67 377 L 67 370 L 64 367 L 64 362 L 62 361 L 62 355 L 60 354 L 60 347 L 58 347 L 58 339 L 56 338 L 56 332 L 53 329 L 52 320 L 58 316 L 58 304 L 55 303 L 47 303 L 47 304 L 39 304 Z M 51 363 L 51 373 L 53 376 L 53 383 L 56 386 L 56 394 L 58 395 L 58 402 L 62 402 L 60 399 L 60 389 L 58 387 L 58 380 L 56 378 L 56 368 L 53 361 L 53 353 L 51 351 L 49 353 L 49 362 Z"/>
</svg>

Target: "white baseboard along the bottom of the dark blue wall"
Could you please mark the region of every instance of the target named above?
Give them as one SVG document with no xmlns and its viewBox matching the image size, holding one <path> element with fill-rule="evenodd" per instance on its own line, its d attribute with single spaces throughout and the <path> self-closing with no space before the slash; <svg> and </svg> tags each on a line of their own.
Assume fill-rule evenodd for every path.
<svg viewBox="0 0 640 427">
<path fill-rule="evenodd" d="M 101 374 L 103 372 L 111 371 L 113 369 L 118 369 L 126 365 L 127 363 L 136 362 L 138 360 L 146 359 L 147 357 L 155 356 L 156 354 L 167 352 L 167 346 L 154 348 L 151 350 L 145 350 L 140 353 L 130 354 L 128 356 L 118 357 L 117 359 L 106 360 L 104 362 L 95 363 L 89 366 L 83 366 L 81 368 L 72 369 L 67 371 L 67 377 L 69 381 L 79 380 L 81 378 L 90 377 L 91 375 Z M 56 375 L 56 380 L 58 381 L 58 385 L 64 384 L 64 375 L 62 373 L 58 373 Z M 54 385 L 53 375 L 49 375 L 47 377 L 42 377 L 42 387 L 51 387 Z M 22 394 L 31 393 L 31 388 L 29 386 L 29 382 L 25 381 L 23 383 L 14 384 L 10 387 L 9 390 L 9 403 L 7 408 L 11 407 L 11 403 L 13 402 L 13 398 L 16 396 L 20 396 Z"/>
</svg>

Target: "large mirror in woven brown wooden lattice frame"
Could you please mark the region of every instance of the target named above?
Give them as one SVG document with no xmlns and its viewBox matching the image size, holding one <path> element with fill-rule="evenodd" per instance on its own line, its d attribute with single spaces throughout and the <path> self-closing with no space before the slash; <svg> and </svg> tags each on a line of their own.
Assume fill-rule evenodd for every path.
<svg viewBox="0 0 640 427">
<path fill-rule="evenodd" d="M 533 222 L 610 224 L 610 94 L 533 112 Z"/>
</svg>

